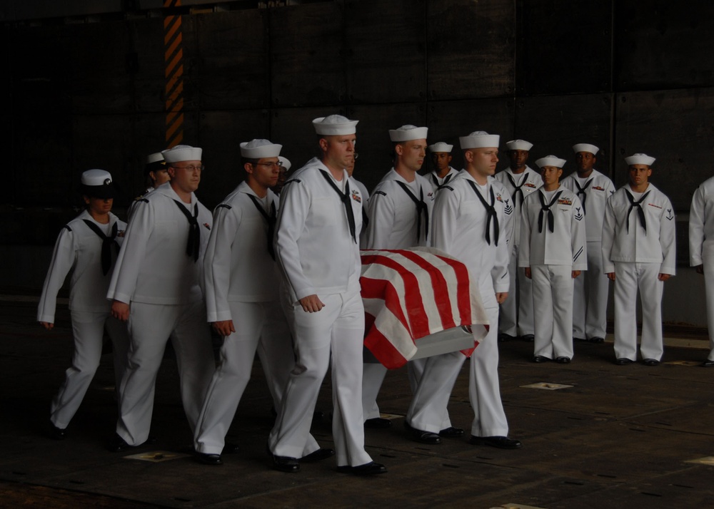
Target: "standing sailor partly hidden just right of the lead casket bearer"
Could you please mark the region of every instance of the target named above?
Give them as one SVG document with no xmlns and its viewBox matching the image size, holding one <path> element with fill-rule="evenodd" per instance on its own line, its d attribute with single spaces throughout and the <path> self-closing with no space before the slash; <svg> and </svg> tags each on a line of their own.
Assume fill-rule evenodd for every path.
<svg viewBox="0 0 714 509">
<path fill-rule="evenodd" d="M 496 173 L 496 180 L 508 190 L 508 205 L 513 207 L 513 239 L 511 240 L 511 298 L 501 304 L 501 323 L 498 325 L 500 341 L 509 341 L 520 336 L 524 341 L 533 341 L 533 282 L 518 267 L 518 252 L 521 248 L 521 206 L 526 196 L 543 185 L 540 173 L 526 163 L 533 143 L 526 140 L 511 140 L 506 143 L 506 155 L 511 161 L 506 170 Z"/>
</svg>

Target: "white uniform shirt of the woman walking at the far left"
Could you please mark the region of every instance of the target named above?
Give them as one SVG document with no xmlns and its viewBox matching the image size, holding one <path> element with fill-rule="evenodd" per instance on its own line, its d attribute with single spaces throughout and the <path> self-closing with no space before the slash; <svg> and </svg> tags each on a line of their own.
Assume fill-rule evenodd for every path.
<svg viewBox="0 0 714 509">
<path fill-rule="evenodd" d="M 47 271 L 39 307 L 37 321 L 54 324 L 54 314 L 57 303 L 57 292 L 62 287 L 69 271 L 72 271 L 69 282 L 69 309 L 84 312 L 109 312 L 111 303 L 106 300 L 106 289 L 111 280 L 111 270 L 102 274 L 101 245 L 102 240 L 93 230 L 90 230 L 84 220 L 94 222 L 104 235 L 111 236 L 114 224 L 117 226 L 116 242 L 121 245 L 126 222 L 120 221 L 116 215 L 109 212 L 109 224 L 96 222 L 86 210 L 71 220 L 59 232 L 54 245 L 52 261 Z M 112 259 L 116 259 L 116 251 L 112 248 Z"/>
</svg>

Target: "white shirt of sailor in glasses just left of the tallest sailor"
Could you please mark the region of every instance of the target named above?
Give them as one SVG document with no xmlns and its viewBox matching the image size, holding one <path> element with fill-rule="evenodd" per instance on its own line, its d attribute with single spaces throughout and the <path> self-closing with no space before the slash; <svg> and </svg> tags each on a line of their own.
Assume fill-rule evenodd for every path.
<svg viewBox="0 0 714 509">
<path fill-rule="evenodd" d="M 203 256 L 208 322 L 230 320 L 228 302 L 271 302 L 278 299 L 278 273 L 268 253 L 268 222 L 251 196 L 263 200 L 241 182 L 216 210 Z M 278 197 L 268 189 L 266 214 Z M 271 239 L 272 245 L 272 239 Z M 237 318 L 237 317 L 236 317 Z"/>
</svg>

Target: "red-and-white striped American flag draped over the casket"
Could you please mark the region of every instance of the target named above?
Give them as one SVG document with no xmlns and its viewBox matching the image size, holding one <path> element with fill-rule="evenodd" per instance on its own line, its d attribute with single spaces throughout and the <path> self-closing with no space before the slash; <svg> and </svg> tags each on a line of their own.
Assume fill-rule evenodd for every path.
<svg viewBox="0 0 714 509">
<path fill-rule="evenodd" d="M 439 331 L 471 326 L 474 347 L 486 336 L 488 317 L 463 263 L 428 247 L 360 254 L 364 345 L 384 366 L 403 366 L 416 340 Z"/>
</svg>

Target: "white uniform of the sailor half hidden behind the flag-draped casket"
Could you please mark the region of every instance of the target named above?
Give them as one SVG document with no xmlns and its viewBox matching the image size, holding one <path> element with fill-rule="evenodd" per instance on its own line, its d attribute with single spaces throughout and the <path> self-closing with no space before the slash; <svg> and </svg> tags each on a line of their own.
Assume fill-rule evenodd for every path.
<svg viewBox="0 0 714 509">
<path fill-rule="evenodd" d="M 388 171 L 374 188 L 367 205 L 368 224 L 364 227 L 363 249 L 403 250 L 409 247 L 428 246 L 433 190 L 426 178 L 415 174 L 413 182 Z M 426 359 L 408 364 L 412 391 L 421 378 Z M 377 394 L 382 386 L 386 367 L 379 362 L 366 362 L 362 376 L 362 404 L 364 420 L 378 418 Z"/>
</svg>

